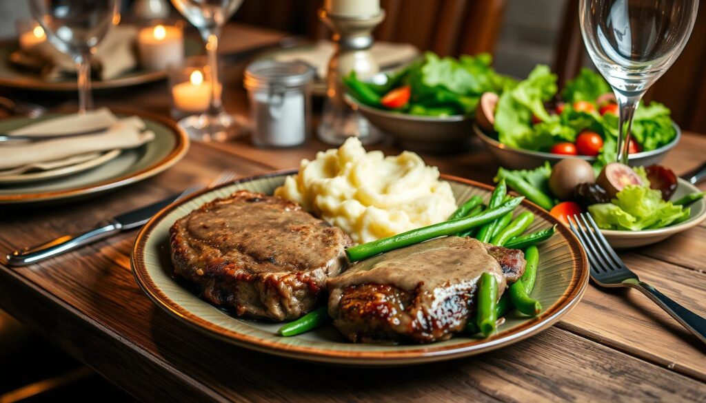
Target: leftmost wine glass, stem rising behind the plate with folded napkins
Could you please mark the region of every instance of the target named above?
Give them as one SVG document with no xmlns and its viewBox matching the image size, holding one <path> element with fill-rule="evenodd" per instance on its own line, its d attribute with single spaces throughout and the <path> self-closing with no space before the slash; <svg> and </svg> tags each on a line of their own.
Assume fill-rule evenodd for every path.
<svg viewBox="0 0 706 403">
<path fill-rule="evenodd" d="M 120 0 L 30 0 L 32 16 L 49 42 L 76 63 L 79 113 L 93 109 L 90 56 L 120 22 L 119 8 Z"/>
</svg>

